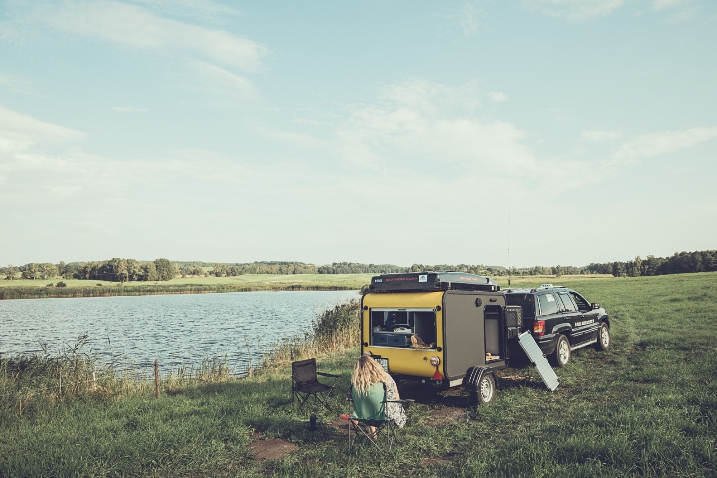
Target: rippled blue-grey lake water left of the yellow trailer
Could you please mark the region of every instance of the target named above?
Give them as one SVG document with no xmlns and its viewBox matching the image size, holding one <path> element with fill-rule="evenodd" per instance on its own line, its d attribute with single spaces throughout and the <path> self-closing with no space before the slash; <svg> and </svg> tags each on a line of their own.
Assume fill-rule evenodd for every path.
<svg viewBox="0 0 717 478">
<path fill-rule="evenodd" d="M 260 291 L 222 294 L 18 299 L 0 301 L 0 355 L 42 352 L 52 355 L 77 336 L 82 349 L 120 367 L 198 365 L 205 357 L 227 355 L 229 367 L 245 372 L 277 339 L 310 330 L 318 314 L 356 291 Z M 109 340 L 108 340 L 109 337 Z M 248 349 L 248 350 L 247 350 Z"/>
</svg>

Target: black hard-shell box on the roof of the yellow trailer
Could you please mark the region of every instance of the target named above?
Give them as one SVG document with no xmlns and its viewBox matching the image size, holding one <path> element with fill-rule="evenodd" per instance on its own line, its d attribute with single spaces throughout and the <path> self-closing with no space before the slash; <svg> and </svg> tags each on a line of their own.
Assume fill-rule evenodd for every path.
<svg viewBox="0 0 717 478">
<path fill-rule="evenodd" d="M 402 274 L 381 274 L 371 278 L 369 291 L 498 291 L 493 279 L 475 274 L 435 271 Z"/>
</svg>

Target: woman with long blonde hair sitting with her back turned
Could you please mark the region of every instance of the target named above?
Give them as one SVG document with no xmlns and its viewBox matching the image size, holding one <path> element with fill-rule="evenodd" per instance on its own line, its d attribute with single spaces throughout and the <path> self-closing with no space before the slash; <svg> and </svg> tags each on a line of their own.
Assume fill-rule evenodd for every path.
<svg viewBox="0 0 717 478">
<path fill-rule="evenodd" d="M 381 413 L 384 395 L 384 384 L 386 385 L 386 400 L 400 400 L 399 391 L 396 382 L 391 375 L 387 374 L 384 367 L 381 367 L 369 355 L 363 355 L 356 362 L 351 374 L 351 385 L 353 389 L 354 406 L 364 406 L 372 403 L 374 407 L 381 405 L 381 409 L 372 411 L 373 413 Z M 369 400 L 366 400 L 369 398 Z M 373 400 L 371 400 L 373 398 Z M 369 414 L 371 411 L 366 411 Z M 386 403 L 386 416 L 396 423 L 396 426 L 402 428 L 406 424 L 406 412 L 400 403 Z M 371 434 L 376 428 L 371 426 Z"/>
</svg>

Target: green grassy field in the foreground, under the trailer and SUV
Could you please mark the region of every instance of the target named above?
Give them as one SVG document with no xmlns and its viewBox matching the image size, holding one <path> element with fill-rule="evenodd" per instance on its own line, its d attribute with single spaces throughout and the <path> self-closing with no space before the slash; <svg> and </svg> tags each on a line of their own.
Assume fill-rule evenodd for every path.
<svg viewBox="0 0 717 478">
<path fill-rule="evenodd" d="M 316 431 L 291 406 L 285 365 L 163 385 L 158 400 L 148 387 L 22 413 L 9 403 L 0 476 L 717 477 L 717 273 L 560 282 L 607 309 L 612 348 L 576 351 L 554 393 L 532 367 L 502 370 L 485 408 L 460 390 L 404 387 L 417 402 L 390 453 L 347 455 L 333 424 L 346 411 L 354 347 L 318 358 L 342 378 Z M 257 444 L 295 451 L 261 460 Z"/>
</svg>

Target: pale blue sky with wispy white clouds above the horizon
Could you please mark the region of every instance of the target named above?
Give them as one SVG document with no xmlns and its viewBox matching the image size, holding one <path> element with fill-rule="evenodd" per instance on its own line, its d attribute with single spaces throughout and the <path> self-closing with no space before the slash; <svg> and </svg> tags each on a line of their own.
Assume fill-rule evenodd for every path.
<svg viewBox="0 0 717 478">
<path fill-rule="evenodd" d="M 0 1 L 0 265 L 717 248 L 717 3 Z"/>
</svg>

